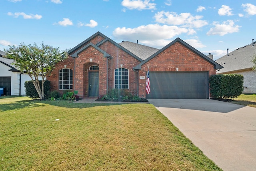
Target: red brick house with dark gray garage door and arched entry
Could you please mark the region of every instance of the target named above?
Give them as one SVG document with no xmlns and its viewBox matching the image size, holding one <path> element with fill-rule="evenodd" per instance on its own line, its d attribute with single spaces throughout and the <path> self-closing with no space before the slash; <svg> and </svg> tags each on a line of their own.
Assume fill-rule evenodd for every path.
<svg viewBox="0 0 256 171">
<path fill-rule="evenodd" d="M 209 98 L 209 76 L 222 68 L 180 38 L 158 50 L 127 41 L 118 44 L 97 32 L 68 54 L 48 78 L 51 90 L 78 90 L 82 98 L 106 95 L 109 89 L 127 89 L 148 99 Z"/>
</svg>

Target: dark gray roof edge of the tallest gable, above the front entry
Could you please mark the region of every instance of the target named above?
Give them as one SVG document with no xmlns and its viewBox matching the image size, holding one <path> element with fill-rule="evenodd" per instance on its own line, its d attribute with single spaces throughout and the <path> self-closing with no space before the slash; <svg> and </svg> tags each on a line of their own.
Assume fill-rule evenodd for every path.
<svg viewBox="0 0 256 171">
<path fill-rule="evenodd" d="M 75 46 L 74 48 L 72 48 L 71 50 L 68 51 L 68 54 L 71 54 L 72 52 L 76 51 L 77 49 L 79 49 L 81 46 L 84 46 L 85 44 L 88 44 L 88 42 L 90 42 L 90 40 L 92 40 L 92 38 L 96 37 L 96 36 L 102 36 L 104 38 L 104 40 L 102 40 L 101 42 L 98 42 L 95 46 L 100 46 L 102 45 L 104 42 L 109 41 L 112 44 L 114 44 L 115 46 L 117 46 L 118 48 L 122 49 L 124 52 L 128 53 L 129 55 L 131 55 L 132 57 L 136 58 L 137 60 L 139 60 L 140 62 L 142 62 L 143 60 L 141 58 L 139 58 L 138 56 L 136 56 L 135 54 L 133 54 L 132 52 L 130 52 L 129 50 L 127 50 L 126 48 L 124 48 L 123 46 L 121 46 L 120 44 L 114 42 L 113 40 L 111 40 L 110 38 L 108 38 L 107 36 L 105 36 L 104 34 L 102 34 L 101 32 L 96 32 L 95 34 L 93 34 L 92 36 L 90 36 L 89 38 L 87 38 L 86 40 L 84 40 L 83 42 L 81 42 L 80 44 L 78 44 L 77 46 Z M 103 51 L 103 50 L 102 50 Z M 105 52 L 106 53 L 106 52 Z"/>
</svg>

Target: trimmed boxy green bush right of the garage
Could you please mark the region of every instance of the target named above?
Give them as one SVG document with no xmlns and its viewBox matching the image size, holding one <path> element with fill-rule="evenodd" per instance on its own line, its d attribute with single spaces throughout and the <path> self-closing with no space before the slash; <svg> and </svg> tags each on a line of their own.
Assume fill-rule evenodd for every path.
<svg viewBox="0 0 256 171">
<path fill-rule="evenodd" d="M 209 78 L 211 96 L 217 99 L 233 99 L 242 94 L 244 76 L 239 74 L 214 75 Z"/>
</svg>

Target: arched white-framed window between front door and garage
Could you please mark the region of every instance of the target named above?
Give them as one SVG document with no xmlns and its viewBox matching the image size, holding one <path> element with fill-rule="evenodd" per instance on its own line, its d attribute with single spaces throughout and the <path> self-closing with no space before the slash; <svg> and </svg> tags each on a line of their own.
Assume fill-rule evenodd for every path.
<svg viewBox="0 0 256 171">
<path fill-rule="evenodd" d="M 115 70 L 115 88 L 129 89 L 129 70 L 126 68 L 117 68 Z"/>
</svg>

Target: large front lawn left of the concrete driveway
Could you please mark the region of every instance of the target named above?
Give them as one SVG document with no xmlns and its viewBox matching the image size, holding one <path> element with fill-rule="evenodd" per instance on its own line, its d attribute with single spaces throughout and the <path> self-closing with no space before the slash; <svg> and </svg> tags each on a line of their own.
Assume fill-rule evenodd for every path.
<svg viewBox="0 0 256 171">
<path fill-rule="evenodd" d="M 221 169 L 151 104 L 14 97 L 0 99 L 0 170 Z"/>
</svg>

